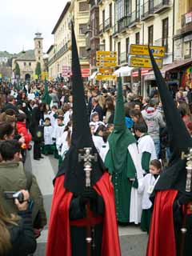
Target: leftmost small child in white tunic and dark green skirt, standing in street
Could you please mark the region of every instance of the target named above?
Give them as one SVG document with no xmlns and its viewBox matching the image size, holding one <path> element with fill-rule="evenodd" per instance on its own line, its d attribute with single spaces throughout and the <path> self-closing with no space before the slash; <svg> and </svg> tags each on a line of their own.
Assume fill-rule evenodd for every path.
<svg viewBox="0 0 192 256">
<path fill-rule="evenodd" d="M 42 154 L 48 155 L 48 154 L 53 154 L 53 132 L 54 129 L 50 125 L 50 118 L 46 118 L 44 122 L 44 145 L 42 147 Z"/>
</svg>

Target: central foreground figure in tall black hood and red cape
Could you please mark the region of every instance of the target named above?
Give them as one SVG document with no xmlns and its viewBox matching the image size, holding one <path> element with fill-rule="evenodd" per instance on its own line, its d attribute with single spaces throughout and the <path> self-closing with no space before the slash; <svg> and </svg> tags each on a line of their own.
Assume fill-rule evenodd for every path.
<svg viewBox="0 0 192 256">
<path fill-rule="evenodd" d="M 115 216 L 114 189 L 102 159 L 92 161 L 90 187 L 86 187 L 84 162 L 78 161 L 85 147 L 98 152 L 90 134 L 78 50 L 72 35 L 73 130 L 70 150 L 54 179 L 54 196 L 46 256 L 86 255 L 86 229 L 91 226 L 91 255 L 119 256 L 118 227 Z M 83 153 L 84 154 L 84 153 Z M 86 212 L 87 202 L 90 214 Z"/>
</svg>

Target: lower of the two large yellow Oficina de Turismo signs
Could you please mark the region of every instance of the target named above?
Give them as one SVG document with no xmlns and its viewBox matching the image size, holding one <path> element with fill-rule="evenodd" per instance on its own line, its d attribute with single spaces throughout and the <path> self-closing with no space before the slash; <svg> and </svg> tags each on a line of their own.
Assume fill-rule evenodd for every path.
<svg viewBox="0 0 192 256">
<path fill-rule="evenodd" d="M 158 64 L 159 68 L 162 68 L 162 59 L 156 58 L 155 61 Z M 131 57 L 130 58 L 130 66 L 134 67 L 151 67 L 152 64 L 150 62 L 150 58 L 139 58 L 139 57 Z"/>
</svg>

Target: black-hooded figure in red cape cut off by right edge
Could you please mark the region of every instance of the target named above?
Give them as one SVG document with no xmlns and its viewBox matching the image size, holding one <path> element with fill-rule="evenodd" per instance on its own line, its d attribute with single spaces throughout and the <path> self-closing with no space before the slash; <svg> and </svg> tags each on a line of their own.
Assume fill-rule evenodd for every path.
<svg viewBox="0 0 192 256">
<path fill-rule="evenodd" d="M 162 172 L 154 187 L 154 210 L 146 255 L 190 256 L 192 192 L 186 192 L 186 160 L 182 160 L 181 154 L 189 154 L 192 139 L 151 52 L 150 58 L 174 153 L 169 166 Z M 181 228 L 185 226 L 187 232 L 182 234 Z"/>
</svg>

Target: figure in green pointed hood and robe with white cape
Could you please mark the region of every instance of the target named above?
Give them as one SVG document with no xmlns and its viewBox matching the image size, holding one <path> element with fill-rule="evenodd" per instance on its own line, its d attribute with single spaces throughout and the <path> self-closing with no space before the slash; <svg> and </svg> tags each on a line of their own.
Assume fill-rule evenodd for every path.
<svg viewBox="0 0 192 256">
<path fill-rule="evenodd" d="M 126 127 L 122 96 L 122 80 L 118 80 L 118 94 L 114 114 L 114 130 L 106 145 L 105 165 L 112 175 L 118 222 L 141 220 L 141 196 L 138 178 L 142 178 L 141 159 L 134 135 Z"/>
</svg>

